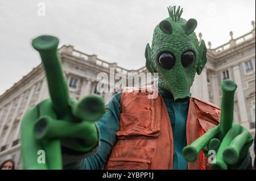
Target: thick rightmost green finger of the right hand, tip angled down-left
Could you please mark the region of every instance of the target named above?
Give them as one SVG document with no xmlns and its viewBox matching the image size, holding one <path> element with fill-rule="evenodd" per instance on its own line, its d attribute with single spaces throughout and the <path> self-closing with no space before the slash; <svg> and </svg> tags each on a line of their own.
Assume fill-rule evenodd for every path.
<svg viewBox="0 0 256 181">
<path fill-rule="evenodd" d="M 247 129 L 243 127 L 241 129 L 241 133 L 234 138 L 228 148 L 226 148 L 223 152 L 224 161 L 229 165 L 234 165 L 238 162 L 242 148 L 248 141 L 250 142 L 250 140 L 253 140 L 253 137 L 247 131 Z"/>
</svg>

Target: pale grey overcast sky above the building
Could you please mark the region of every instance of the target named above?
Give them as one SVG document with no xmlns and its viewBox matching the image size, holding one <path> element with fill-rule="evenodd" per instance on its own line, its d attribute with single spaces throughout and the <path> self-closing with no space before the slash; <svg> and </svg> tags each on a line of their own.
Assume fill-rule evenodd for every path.
<svg viewBox="0 0 256 181">
<path fill-rule="evenodd" d="M 38 3 L 46 16 L 38 16 Z M 167 6 L 183 7 L 195 18 L 212 48 L 252 30 L 255 0 L 0 0 L 0 95 L 40 64 L 31 39 L 44 33 L 126 69 L 144 66 L 144 49 L 155 26 L 168 17 Z"/>
</svg>

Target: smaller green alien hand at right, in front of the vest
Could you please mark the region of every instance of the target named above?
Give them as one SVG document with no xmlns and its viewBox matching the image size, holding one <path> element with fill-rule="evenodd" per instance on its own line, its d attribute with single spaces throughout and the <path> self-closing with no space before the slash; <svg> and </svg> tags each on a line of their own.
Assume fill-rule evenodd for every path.
<svg viewBox="0 0 256 181">
<path fill-rule="evenodd" d="M 183 156 L 188 162 L 193 162 L 196 161 L 201 150 L 205 154 L 208 150 L 214 150 L 216 158 L 215 163 L 211 163 L 212 169 L 237 169 L 253 144 L 253 137 L 246 128 L 233 123 L 236 83 L 224 80 L 221 83 L 221 89 L 220 124 L 209 129 L 191 145 L 185 146 Z"/>
</svg>

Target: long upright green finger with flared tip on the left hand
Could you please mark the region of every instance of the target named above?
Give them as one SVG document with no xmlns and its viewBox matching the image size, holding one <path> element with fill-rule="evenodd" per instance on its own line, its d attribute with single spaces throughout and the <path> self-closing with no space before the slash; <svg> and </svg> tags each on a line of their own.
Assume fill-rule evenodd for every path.
<svg viewBox="0 0 256 181">
<path fill-rule="evenodd" d="M 38 50 L 42 58 L 53 107 L 58 118 L 61 118 L 69 108 L 69 94 L 60 60 L 57 56 L 58 44 L 59 40 L 54 36 L 43 35 L 32 40 L 32 47 Z"/>
</svg>

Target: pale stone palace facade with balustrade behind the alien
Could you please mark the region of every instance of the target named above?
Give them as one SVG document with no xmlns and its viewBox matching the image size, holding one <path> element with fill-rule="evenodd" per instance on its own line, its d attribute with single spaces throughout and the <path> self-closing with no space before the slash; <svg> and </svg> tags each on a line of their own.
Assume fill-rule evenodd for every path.
<svg viewBox="0 0 256 181">
<path fill-rule="evenodd" d="M 209 45 L 208 62 L 201 75 L 196 75 L 191 88 L 193 96 L 220 106 L 223 79 L 234 80 L 238 87 L 235 96 L 234 121 L 255 134 L 255 26 L 245 35 L 233 38 L 220 47 L 212 49 Z M 199 35 L 201 40 L 201 34 Z M 200 43 L 200 42 L 199 42 Z M 146 73 L 145 67 L 138 70 L 127 70 L 116 63 L 100 60 L 96 55 L 89 55 L 64 45 L 59 49 L 63 70 L 67 78 L 69 93 L 79 100 L 88 94 L 101 95 L 105 102 L 113 93 L 98 92 L 96 87 L 98 73 Z M 144 61 L 144 60 L 143 60 Z M 111 76 L 111 75 L 110 75 Z M 114 85 L 110 83 L 109 89 Z M 17 169 L 22 168 L 20 161 L 20 120 L 26 110 L 48 98 L 48 87 L 43 66 L 40 64 L 15 83 L 0 96 L 0 163 L 13 158 Z M 251 154 L 254 154 L 251 150 Z"/>
</svg>

